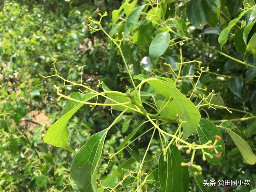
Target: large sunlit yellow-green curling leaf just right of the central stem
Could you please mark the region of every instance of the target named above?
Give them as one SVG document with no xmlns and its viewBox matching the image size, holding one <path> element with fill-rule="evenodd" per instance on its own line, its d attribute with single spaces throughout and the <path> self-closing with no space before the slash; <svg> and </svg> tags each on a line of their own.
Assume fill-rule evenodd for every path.
<svg viewBox="0 0 256 192">
<path fill-rule="evenodd" d="M 196 106 L 173 85 L 171 79 L 162 77 L 148 79 L 150 80 L 147 81 L 147 83 L 154 88 L 156 93 L 163 95 L 166 99 L 169 99 L 171 96 L 174 100 L 179 111 L 178 114 L 181 116 L 181 119 L 186 122 L 182 124 L 183 139 L 186 140 L 187 137 L 196 131 L 201 117 L 200 112 L 197 110 Z"/>
</svg>

